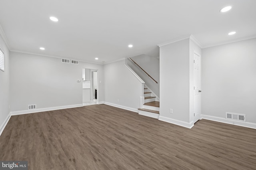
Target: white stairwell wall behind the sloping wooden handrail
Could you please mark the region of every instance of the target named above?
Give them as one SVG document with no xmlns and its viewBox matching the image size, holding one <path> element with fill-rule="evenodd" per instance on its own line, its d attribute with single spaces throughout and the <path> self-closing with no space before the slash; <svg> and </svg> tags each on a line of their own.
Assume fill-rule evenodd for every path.
<svg viewBox="0 0 256 170">
<path fill-rule="evenodd" d="M 152 90 L 157 97 L 160 96 L 160 61 L 156 57 L 150 57 L 142 54 L 135 57 L 131 57 L 142 69 L 144 69 L 151 77 L 153 77 L 158 83 L 155 83 L 144 71 L 142 71 L 133 61 L 128 60 L 128 65 L 137 73 L 140 78 L 145 81 L 150 90 Z"/>
</svg>

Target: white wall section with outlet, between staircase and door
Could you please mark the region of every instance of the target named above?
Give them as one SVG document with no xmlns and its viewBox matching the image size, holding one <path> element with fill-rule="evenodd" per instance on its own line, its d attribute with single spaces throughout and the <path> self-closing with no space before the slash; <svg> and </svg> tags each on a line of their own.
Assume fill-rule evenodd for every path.
<svg viewBox="0 0 256 170">
<path fill-rule="evenodd" d="M 190 121 L 189 55 L 189 39 L 160 47 L 160 120 Z"/>
</svg>

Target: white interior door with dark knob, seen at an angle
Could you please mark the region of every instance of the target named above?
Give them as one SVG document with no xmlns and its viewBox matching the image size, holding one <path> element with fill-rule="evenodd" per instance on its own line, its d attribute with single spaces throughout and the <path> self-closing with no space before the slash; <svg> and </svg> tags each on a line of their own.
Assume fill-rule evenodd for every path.
<svg viewBox="0 0 256 170">
<path fill-rule="evenodd" d="M 194 53 L 194 123 L 200 119 L 200 55 Z"/>
</svg>

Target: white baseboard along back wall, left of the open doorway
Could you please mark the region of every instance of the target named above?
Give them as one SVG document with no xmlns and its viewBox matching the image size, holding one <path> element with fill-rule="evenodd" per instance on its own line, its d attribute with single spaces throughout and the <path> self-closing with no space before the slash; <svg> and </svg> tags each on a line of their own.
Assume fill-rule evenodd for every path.
<svg viewBox="0 0 256 170">
<path fill-rule="evenodd" d="M 69 109 L 69 108 L 74 108 L 74 107 L 83 107 L 83 104 L 48 107 L 48 108 L 25 110 L 25 111 L 14 111 L 14 112 L 10 112 L 10 114 L 11 115 L 23 115 L 23 114 L 28 114 L 28 113 L 38 113 L 38 112 L 45 112 L 45 111 L 55 111 L 55 110 L 60 110 L 60 109 Z"/>
</svg>

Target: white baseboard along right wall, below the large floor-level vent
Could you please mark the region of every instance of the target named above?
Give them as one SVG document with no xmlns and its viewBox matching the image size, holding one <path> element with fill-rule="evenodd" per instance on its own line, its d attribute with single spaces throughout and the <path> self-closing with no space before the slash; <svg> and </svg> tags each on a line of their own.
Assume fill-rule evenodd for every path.
<svg viewBox="0 0 256 170">
<path fill-rule="evenodd" d="M 248 128 L 256 129 L 256 123 L 240 122 L 240 121 L 225 119 L 222 117 L 209 116 L 209 115 L 201 115 L 201 119 L 207 119 L 210 121 L 216 121 L 216 122 L 227 123 L 227 124 L 231 124 L 231 125 L 237 125 L 237 126 L 241 126 L 241 127 L 248 127 Z"/>
</svg>

